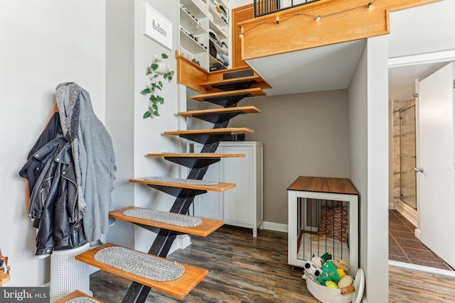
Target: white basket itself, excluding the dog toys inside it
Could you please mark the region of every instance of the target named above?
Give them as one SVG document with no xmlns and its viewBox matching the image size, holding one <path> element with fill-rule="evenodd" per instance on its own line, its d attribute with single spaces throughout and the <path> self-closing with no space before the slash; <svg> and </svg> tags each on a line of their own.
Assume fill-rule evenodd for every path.
<svg viewBox="0 0 455 303">
<path fill-rule="evenodd" d="M 365 288 L 365 272 L 363 272 L 362 268 L 359 268 L 355 274 L 354 287 L 355 292 L 352 294 L 341 294 L 341 290 L 328 288 L 317 284 L 311 279 L 306 279 L 308 291 L 323 303 L 359 303 Z"/>
</svg>

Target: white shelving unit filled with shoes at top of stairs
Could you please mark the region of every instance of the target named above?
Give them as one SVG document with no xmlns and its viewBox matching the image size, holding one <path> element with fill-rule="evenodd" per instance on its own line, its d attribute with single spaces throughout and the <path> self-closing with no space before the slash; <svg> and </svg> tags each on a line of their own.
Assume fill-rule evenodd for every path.
<svg viewBox="0 0 455 303">
<path fill-rule="evenodd" d="M 208 71 L 226 69 L 229 62 L 228 0 L 180 0 L 178 11 L 181 55 L 199 62 L 200 67 Z"/>
</svg>

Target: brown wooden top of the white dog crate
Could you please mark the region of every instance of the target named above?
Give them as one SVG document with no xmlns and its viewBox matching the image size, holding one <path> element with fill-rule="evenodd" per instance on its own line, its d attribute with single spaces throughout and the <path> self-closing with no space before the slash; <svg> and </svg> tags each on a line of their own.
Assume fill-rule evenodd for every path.
<svg viewBox="0 0 455 303">
<path fill-rule="evenodd" d="M 358 194 L 349 179 L 326 177 L 298 177 L 287 190 L 302 192 L 328 192 L 333 194 Z"/>
</svg>

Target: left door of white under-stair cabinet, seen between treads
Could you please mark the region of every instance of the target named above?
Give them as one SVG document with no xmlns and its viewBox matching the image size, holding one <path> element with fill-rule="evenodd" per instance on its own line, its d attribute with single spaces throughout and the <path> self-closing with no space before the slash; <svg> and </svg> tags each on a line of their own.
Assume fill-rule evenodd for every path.
<svg viewBox="0 0 455 303">
<path fill-rule="evenodd" d="M 199 153 L 202 145 L 195 145 L 195 152 Z M 203 180 L 222 182 L 221 164 L 217 162 L 208 167 Z M 208 191 L 194 199 L 194 215 L 203 218 L 223 221 L 223 196 L 221 192 Z"/>
</svg>

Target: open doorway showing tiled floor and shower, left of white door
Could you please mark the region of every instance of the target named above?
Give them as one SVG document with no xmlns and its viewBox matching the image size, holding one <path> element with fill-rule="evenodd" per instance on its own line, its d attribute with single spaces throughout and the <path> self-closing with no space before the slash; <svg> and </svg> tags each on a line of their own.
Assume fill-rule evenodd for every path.
<svg viewBox="0 0 455 303">
<path fill-rule="evenodd" d="M 389 60 L 390 62 L 393 60 Z M 424 265 L 442 270 L 453 270 L 444 260 L 420 241 L 422 197 L 419 197 L 419 82 L 440 70 L 447 62 L 413 62 L 400 65 L 400 58 L 389 72 L 390 86 L 390 146 L 392 169 L 392 194 L 389 203 L 389 260 L 413 265 Z M 405 60 L 404 60 L 405 61 Z M 449 60 L 451 61 L 451 60 Z M 409 63 L 409 62 L 408 62 Z M 399 85 L 405 88 L 399 87 Z M 401 96 L 398 91 L 404 92 Z M 413 96 L 414 95 L 414 96 Z M 395 101 L 397 96 L 406 101 Z M 417 97 L 417 98 L 412 98 Z M 427 109 L 428 110 L 428 109 Z M 422 114 L 422 113 L 420 113 Z M 422 130 L 420 130 L 422 131 Z M 416 133 L 417 136 L 412 133 Z M 431 148 L 430 148 L 431 150 Z M 393 167 L 393 168 L 392 168 Z M 426 172 L 425 172 L 426 173 Z M 417 180 L 416 180 L 417 179 Z M 427 203 L 429 199 L 425 199 Z M 432 199 L 430 199 L 432 200 Z M 420 201 L 420 202 L 419 202 Z M 420 223 L 419 223 L 420 220 Z M 417 228 L 418 227 L 418 228 Z M 423 239 L 422 239 L 423 241 Z"/>
</svg>

